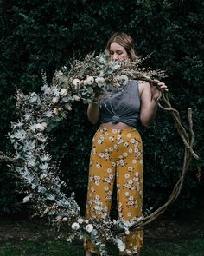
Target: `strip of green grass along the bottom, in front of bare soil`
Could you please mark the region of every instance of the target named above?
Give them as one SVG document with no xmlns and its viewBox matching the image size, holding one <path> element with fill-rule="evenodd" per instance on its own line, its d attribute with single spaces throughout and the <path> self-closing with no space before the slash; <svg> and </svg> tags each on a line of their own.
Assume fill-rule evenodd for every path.
<svg viewBox="0 0 204 256">
<path fill-rule="evenodd" d="M 118 255 L 117 251 L 112 252 Z M 157 242 L 143 248 L 142 256 L 203 256 L 204 236 L 177 242 Z M 81 256 L 81 244 L 67 244 L 62 240 L 8 240 L 0 244 L 0 256 Z"/>
</svg>

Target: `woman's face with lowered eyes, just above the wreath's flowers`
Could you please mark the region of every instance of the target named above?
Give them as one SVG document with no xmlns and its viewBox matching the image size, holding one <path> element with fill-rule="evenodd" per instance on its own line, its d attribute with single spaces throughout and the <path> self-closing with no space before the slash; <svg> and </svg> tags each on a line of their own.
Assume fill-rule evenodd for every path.
<svg viewBox="0 0 204 256">
<path fill-rule="evenodd" d="M 116 42 L 111 43 L 109 54 L 112 61 L 124 61 L 129 58 L 124 47 Z"/>
</svg>

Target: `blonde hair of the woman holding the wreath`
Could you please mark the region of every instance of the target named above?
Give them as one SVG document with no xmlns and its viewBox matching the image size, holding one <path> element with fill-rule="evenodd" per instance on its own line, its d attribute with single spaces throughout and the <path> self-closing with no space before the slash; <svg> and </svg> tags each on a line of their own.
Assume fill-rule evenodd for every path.
<svg viewBox="0 0 204 256">
<path fill-rule="evenodd" d="M 110 50 L 110 46 L 113 42 L 118 43 L 119 45 L 124 47 L 131 61 L 135 61 L 137 59 L 135 48 L 134 48 L 134 41 L 131 38 L 131 36 L 123 32 L 113 34 L 108 40 L 108 43 L 106 45 L 107 50 Z"/>
</svg>

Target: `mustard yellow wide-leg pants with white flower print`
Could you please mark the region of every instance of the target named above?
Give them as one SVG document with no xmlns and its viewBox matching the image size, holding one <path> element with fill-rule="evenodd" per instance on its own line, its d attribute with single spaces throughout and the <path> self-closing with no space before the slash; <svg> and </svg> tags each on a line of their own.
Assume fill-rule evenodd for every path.
<svg viewBox="0 0 204 256">
<path fill-rule="evenodd" d="M 86 218 L 103 218 L 98 210 L 102 202 L 110 213 L 113 184 L 116 180 L 118 219 L 132 220 L 142 215 L 143 142 L 136 128 L 124 130 L 100 127 L 92 139 Z M 125 250 L 131 255 L 143 246 L 143 231 L 121 234 Z M 85 248 L 96 253 L 91 241 Z M 121 254 L 125 253 L 122 252 Z"/>
</svg>

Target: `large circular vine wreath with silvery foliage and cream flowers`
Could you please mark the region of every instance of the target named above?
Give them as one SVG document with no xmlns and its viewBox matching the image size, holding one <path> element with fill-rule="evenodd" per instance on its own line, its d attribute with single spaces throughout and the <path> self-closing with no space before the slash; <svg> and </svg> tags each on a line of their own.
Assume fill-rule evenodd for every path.
<svg viewBox="0 0 204 256">
<path fill-rule="evenodd" d="M 31 202 L 35 213 L 48 216 L 54 225 L 66 226 L 67 241 L 88 236 L 99 249 L 100 255 L 107 255 L 106 242 L 112 242 L 120 251 L 124 251 L 124 242 L 118 237 L 118 233 L 123 231 L 128 234 L 130 229 L 143 228 L 177 198 L 191 155 L 198 158 L 192 149 L 194 132 L 191 109 L 188 110 L 188 135 L 182 127 L 178 111 L 171 107 L 167 95 L 161 92 L 160 102 L 163 102 L 165 107 L 160 102 L 158 105 L 173 116 L 185 146 L 182 174 L 169 200 L 162 207 L 150 215 L 131 221 L 111 220 L 108 216 L 105 219 L 86 220 L 80 215 L 80 207 L 74 200 L 74 193 L 67 197 L 61 191 L 61 188 L 67 185 L 58 176 L 59 167 L 48 153 L 48 127 L 53 122 L 65 118 L 75 101 L 94 102 L 99 95 L 108 96 L 107 88 L 108 91 L 123 89 L 129 79 L 145 80 L 156 85 L 157 79 L 165 76 L 161 70 L 143 69 L 142 63 L 142 59 L 135 62 L 112 62 L 106 52 L 99 56 L 87 55 L 83 61 L 74 60 L 70 69 L 63 67 L 55 71 L 50 85 L 46 74 L 42 72 L 41 94 L 32 92 L 25 95 L 19 89 L 16 92 L 16 107 L 21 117 L 19 121 L 11 123 L 9 135 L 16 154 L 10 167 L 14 168 L 26 183 L 27 195 L 23 202 Z M 99 204 L 97 207 L 97 210 L 104 211 L 103 205 Z M 125 253 L 129 252 L 126 250 Z"/>
</svg>

